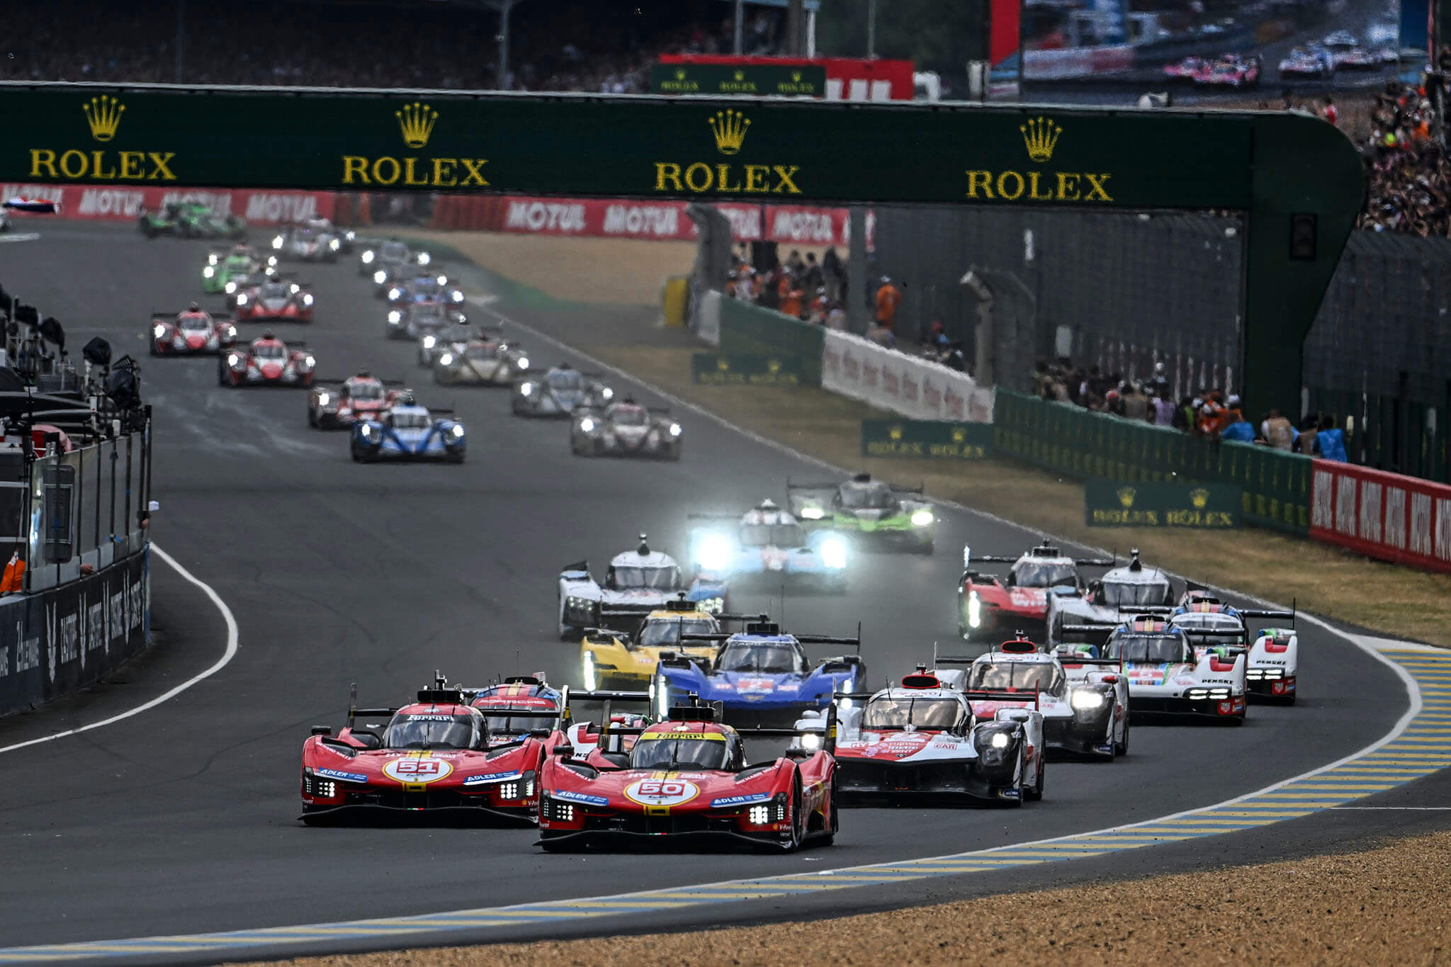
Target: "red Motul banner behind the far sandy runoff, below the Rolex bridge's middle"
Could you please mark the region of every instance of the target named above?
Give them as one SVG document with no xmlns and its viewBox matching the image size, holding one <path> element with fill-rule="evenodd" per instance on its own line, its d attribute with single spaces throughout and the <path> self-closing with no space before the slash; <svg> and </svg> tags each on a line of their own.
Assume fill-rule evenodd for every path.
<svg viewBox="0 0 1451 967">
<path fill-rule="evenodd" d="M 698 232 L 685 206 L 685 202 L 443 194 L 434 202 L 432 228 L 691 242 Z M 731 236 L 737 242 L 765 239 L 813 246 L 850 242 L 847 209 L 731 203 L 715 207 L 730 219 Z M 874 235 L 875 220 L 868 212 L 868 239 Z"/>
</svg>

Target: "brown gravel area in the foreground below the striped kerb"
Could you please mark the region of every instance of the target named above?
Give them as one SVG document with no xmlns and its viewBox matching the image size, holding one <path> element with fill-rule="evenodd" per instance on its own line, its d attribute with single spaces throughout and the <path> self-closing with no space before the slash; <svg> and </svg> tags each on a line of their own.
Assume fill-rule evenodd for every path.
<svg viewBox="0 0 1451 967">
<path fill-rule="evenodd" d="M 694 934 L 281 961 L 463 964 L 1444 964 L 1451 832 L 1291 863 Z"/>
</svg>

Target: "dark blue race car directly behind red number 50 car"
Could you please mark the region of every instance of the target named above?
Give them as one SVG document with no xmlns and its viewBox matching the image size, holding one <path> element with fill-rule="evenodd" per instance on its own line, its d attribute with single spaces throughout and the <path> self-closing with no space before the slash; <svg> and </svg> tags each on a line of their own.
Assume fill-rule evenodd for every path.
<svg viewBox="0 0 1451 967">
<path fill-rule="evenodd" d="M 682 641 L 720 641 L 715 660 L 662 657 L 656 674 L 656 700 L 662 709 L 681 705 L 694 693 L 701 702 L 720 702 L 727 721 L 752 725 L 794 723 L 801 712 L 824 709 L 837 694 L 866 686 L 866 664 L 859 654 L 813 663 L 804 645 L 850 645 L 860 651 L 862 636 L 788 635 L 773 622 L 750 622 L 736 635 L 685 635 Z"/>
</svg>

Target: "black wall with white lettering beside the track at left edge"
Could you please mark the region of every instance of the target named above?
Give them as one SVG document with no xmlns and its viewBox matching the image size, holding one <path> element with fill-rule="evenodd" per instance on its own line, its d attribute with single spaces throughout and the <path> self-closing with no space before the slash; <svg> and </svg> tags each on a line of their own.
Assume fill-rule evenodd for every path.
<svg viewBox="0 0 1451 967">
<path fill-rule="evenodd" d="M 149 549 L 33 594 L 0 599 L 0 715 L 97 681 L 147 645 Z"/>
</svg>

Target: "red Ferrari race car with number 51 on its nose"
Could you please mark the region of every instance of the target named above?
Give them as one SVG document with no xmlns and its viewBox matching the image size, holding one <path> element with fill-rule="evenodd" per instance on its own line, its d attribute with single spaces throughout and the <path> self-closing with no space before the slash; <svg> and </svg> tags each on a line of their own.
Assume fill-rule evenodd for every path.
<svg viewBox="0 0 1451 967">
<path fill-rule="evenodd" d="M 445 687 L 418 693 L 398 709 L 358 709 L 337 738 L 313 726 L 302 747 L 302 821 L 318 825 L 350 815 L 472 818 L 533 825 L 547 739 L 495 736 L 472 693 Z M 358 719 L 386 719 L 361 726 Z M 554 723 L 550 722 L 550 726 Z M 553 735 L 553 728 L 543 729 Z"/>
</svg>

